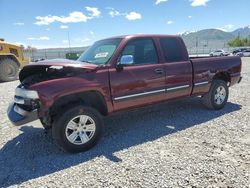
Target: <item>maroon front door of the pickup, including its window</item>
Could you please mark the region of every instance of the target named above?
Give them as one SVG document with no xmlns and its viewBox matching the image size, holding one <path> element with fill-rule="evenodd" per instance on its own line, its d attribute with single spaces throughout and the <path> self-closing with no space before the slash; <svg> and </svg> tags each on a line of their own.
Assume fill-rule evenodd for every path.
<svg viewBox="0 0 250 188">
<path fill-rule="evenodd" d="M 160 101 L 165 96 L 165 71 L 159 64 L 152 38 L 128 41 L 121 56 L 134 57 L 133 64 L 122 70 L 110 69 L 111 94 L 115 110 Z M 119 63 L 119 60 L 118 60 Z"/>
</svg>

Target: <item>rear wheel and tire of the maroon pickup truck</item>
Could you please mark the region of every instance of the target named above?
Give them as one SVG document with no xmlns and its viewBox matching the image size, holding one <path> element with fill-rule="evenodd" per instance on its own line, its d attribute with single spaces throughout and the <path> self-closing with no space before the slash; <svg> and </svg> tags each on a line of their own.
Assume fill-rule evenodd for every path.
<svg viewBox="0 0 250 188">
<path fill-rule="evenodd" d="M 213 80 L 209 92 L 202 97 L 202 103 L 208 109 L 220 110 L 226 105 L 228 95 L 227 83 L 223 80 Z"/>
</svg>

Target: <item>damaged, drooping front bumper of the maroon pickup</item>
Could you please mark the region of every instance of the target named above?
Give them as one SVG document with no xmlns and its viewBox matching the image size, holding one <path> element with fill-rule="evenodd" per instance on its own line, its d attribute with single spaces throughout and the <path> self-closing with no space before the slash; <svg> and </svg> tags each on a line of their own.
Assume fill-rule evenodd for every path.
<svg viewBox="0 0 250 188">
<path fill-rule="evenodd" d="M 8 117 L 13 125 L 20 126 L 38 119 L 37 110 L 26 111 L 16 103 L 11 103 L 8 107 Z"/>
</svg>

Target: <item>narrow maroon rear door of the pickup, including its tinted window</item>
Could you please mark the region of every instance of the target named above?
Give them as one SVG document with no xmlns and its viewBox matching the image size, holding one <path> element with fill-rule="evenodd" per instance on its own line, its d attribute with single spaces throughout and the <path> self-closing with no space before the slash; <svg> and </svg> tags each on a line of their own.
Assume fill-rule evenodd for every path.
<svg viewBox="0 0 250 188">
<path fill-rule="evenodd" d="M 166 72 L 166 99 L 189 96 L 192 91 L 192 64 L 184 42 L 176 37 L 159 40 Z"/>
</svg>

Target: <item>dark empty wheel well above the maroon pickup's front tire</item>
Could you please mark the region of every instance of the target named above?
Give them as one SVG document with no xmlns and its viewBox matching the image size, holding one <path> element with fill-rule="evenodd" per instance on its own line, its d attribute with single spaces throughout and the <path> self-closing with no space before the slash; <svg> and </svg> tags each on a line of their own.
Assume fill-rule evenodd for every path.
<svg viewBox="0 0 250 188">
<path fill-rule="evenodd" d="M 65 107 L 74 106 L 76 104 L 83 104 L 95 108 L 102 115 L 108 114 L 107 105 L 102 94 L 98 91 L 87 91 L 64 96 L 55 101 L 50 109 L 50 116 L 57 116 Z"/>
</svg>

